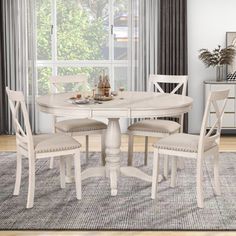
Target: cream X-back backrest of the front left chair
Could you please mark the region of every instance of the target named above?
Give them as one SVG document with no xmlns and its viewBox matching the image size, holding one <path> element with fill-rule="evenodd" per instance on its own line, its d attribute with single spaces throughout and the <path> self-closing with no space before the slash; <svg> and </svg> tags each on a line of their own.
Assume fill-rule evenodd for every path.
<svg viewBox="0 0 236 236">
<path fill-rule="evenodd" d="M 12 112 L 13 125 L 16 132 L 17 145 L 24 143 L 24 146 L 28 146 L 29 151 L 33 151 L 33 136 L 29 122 L 29 115 L 25 105 L 25 98 L 21 91 L 13 91 L 8 87 L 6 92 L 9 99 L 9 105 Z M 20 125 L 18 114 L 22 113 L 24 128 Z"/>
</svg>

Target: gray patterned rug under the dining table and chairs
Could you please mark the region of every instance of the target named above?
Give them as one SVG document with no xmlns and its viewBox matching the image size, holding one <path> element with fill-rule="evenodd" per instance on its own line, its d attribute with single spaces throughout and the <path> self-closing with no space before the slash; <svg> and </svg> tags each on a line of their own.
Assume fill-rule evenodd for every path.
<svg viewBox="0 0 236 236">
<path fill-rule="evenodd" d="M 122 154 L 126 165 L 127 154 Z M 143 155 L 136 153 L 135 166 L 143 166 Z M 178 171 L 177 187 L 169 180 L 159 185 L 158 201 L 150 198 L 151 185 L 135 178 L 121 177 L 118 195 L 110 196 L 104 178 L 83 181 L 82 200 L 75 198 L 74 184 L 60 189 L 58 165 L 48 168 L 46 160 L 37 161 L 36 192 L 33 209 L 26 209 L 27 160 L 23 161 L 23 179 L 19 196 L 13 196 L 15 154 L 0 153 L 0 229 L 76 229 L 76 230 L 232 230 L 236 229 L 236 154 L 222 153 L 222 196 L 213 193 L 211 158 L 204 167 L 205 208 L 199 209 L 195 197 L 195 161 L 186 160 Z M 92 153 L 88 164 L 82 154 L 82 168 L 95 166 L 100 155 Z"/>
</svg>

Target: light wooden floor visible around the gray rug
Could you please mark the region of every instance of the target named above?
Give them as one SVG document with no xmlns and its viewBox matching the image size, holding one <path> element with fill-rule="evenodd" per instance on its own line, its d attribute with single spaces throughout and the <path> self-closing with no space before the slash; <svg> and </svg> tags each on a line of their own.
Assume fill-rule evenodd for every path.
<svg viewBox="0 0 236 236">
<path fill-rule="evenodd" d="M 84 137 L 77 138 L 83 147 L 85 146 Z M 156 139 L 150 138 L 149 151 L 152 151 L 152 143 Z M 144 138 L 135 137 L 134 139 L 134 151 L 142 152 L 144 150 Z M 127 135 L 122 135 L 121 150 L 127 151 L 128 138 Z M 16 150 L 15 136 L 0 135 L 0 151 L 14 152 Z M 100 151 L 100 139 L 98 136 L 90 137 L 90 150 Z M 236 136 L 223 136 L 220 143 L 221 152 L 236 152 Z M 118 236 L 118 235 L 135 235 L 135 236 L 235 236 L 236 232 L 177 232 L 177 231 L 160 231 L 160 232 L 145 232 L 145 231 L 0 231 L 0 236 Z"/>
</svg>

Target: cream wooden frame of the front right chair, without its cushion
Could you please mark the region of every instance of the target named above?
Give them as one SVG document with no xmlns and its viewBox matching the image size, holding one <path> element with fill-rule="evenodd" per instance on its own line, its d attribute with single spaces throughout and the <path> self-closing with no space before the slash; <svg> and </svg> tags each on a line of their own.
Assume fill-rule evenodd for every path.
<svg viewBox="0 0 236 236">
<path fill-rule="evenodd" d="M 227 97 L 229 94 L 229 90 L 223 91 L 213 91 L 209 94 L 206 108 L 203 116 L 201 132 L 199 136 L 198 142 L 198 150 L 197 153 L 187 152 L 187 151 L 175 151 L 169 149 L 160 149 L 154 148 L 154 159 L 153 159 L 153 174 L 152 174 L 152 195 L 151 198 L 156 198 L 156 191 L 158 185 L 158 172 L 159 172 L 159 155 L 170 155 L 172 156 L 172 170 L 171 170 L 171 187 L 175 187 L 176 185 L 176 161 L 178 157 L 185 158 L 193 158 L 197 160 L 197 175 L 196 175 L 196 192 L 197 192 L 197 204 L 199 208 L 204 207 L 203 203 L 203 187 L 202 187 L 202 179 L 203 179 L 203 160 L 207 156 L 214 157 L 214 190 L 216 195 L 220 195 L 220 182 L 219 182 L 219 141 L 220 141 L 220 132 L 222 126 L 222 118 L 227 102 Z M 223 101 L 223 105 L 220 109 L 219 104 L 217 102 Z M 213 108 L 216 112 L 216 121 L 207 130 L 207 123 L 210 115 L 210 108 L 213 105 Z M 217 145 L 213 146 L 211 149 L 205 151 L 205 143 L 206 141 L 215 142 Z"/>
</svg>

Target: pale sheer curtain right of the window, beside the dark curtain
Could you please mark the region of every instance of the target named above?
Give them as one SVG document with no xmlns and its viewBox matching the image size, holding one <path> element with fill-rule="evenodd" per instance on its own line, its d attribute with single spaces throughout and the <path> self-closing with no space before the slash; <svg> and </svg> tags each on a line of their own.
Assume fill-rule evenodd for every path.
<svg viewBox="0 0 236 236">
<path fill-rule="evenodd" d="M 159 0 L 131 0 L 131 89 L 146 91 L 150 74 L 157 74 Z M 138 20 L 137 20 L 138 18 Z"/>
</svg>

